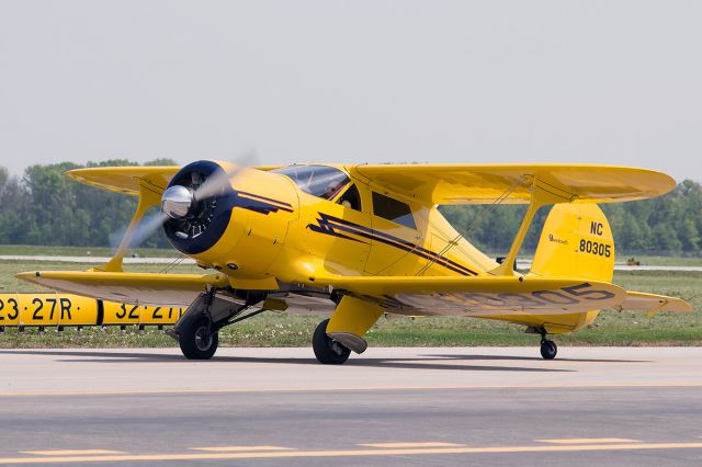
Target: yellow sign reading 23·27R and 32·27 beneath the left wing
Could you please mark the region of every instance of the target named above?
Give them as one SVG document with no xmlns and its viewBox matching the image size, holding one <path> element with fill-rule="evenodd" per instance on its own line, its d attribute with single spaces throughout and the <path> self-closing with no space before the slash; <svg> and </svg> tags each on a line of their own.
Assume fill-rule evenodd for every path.
<svg viewBox="0 0 702 467">
<path fill-rule="evenodd" d="M 71 294 L 0 294 L 0 326 L 166 326 L 185 308 L 118 304 Z"/>
</svg>

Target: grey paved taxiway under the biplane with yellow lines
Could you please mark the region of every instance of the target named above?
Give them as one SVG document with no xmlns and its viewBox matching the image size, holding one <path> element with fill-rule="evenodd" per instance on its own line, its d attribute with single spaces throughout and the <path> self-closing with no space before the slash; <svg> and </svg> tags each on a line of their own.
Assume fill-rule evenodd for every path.
<svg viewBox="0 0 702 467">
<path fill-rule="evenodd" d="M 702 465 L 702 349 L 0 351 L 0 465 Z"/>
</svg>

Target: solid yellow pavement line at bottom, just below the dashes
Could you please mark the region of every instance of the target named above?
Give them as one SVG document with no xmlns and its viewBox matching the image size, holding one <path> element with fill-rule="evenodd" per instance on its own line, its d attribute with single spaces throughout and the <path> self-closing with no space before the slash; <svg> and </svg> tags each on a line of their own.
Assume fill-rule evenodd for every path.
<svg viewBox="0 0 702 467">
<path fill-rule="evenodd" d="M 575 451 L 644 451 L 644 449 L 702 449 L 702 443 L 633 443 L 633 444 L 578 444 L 556 446 L 489 446 L 489 447 L 426 447 L 398 449 L 339 449 L 339 451 L 285 451 L 256 453 L 197 453 L 197 454 L 129 454 L 105 456 L 63 457 L 4 457 L 0 464 L 59 464 L 95 462 L 149 462 L 149 460 L 222 460 L 296 457 L 362 457 L 422 454 L 503 454 L 555 453 Z"/>
</svg>

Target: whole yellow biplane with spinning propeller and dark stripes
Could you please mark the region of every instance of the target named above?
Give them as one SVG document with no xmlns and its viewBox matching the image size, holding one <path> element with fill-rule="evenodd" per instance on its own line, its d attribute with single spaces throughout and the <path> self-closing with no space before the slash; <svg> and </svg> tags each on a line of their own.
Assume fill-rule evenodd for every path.
<svg viewBox="0 0 702 467">
<path fill-rule="evenodd" d="M 317 327 L 317 360 L 341 364 L 384 314 L 457 316 L 523 324 L 547 334 L 591 323 L 602 308 L 689 311 L 679 298 L 611 283 L 614 241 L 597 203 L 644 200 L 675 181 L 634 168 L 576 164 L 91 168 L 68 176 L 139 196 L 110 262 L 86 272 L 18 277 L 78 295 L 188 306 L 170 334 L 188 358 L 211 358 L 218 330 L 263 310 L 330 315 Z M 437 209 L 446 204 L 528 204 L 501 261 L 478 251 Z M 546 218 L 531 271 L 516 258 L 536 210 Z M 145 213 L 158 215 L 145 220 Z M 172 246 L 210 274 L 123 272 L 140 226 L 162 226 Z"/>
</svg>

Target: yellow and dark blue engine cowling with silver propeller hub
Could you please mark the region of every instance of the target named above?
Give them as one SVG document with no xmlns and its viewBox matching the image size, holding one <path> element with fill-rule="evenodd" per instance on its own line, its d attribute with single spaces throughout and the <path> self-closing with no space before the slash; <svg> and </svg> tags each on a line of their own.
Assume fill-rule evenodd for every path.
<svg viewBox="0 0 702 467">
<path fill-rule="evenodd" d="M 201 264 L 269 275 L 298 218 L 297 187 L 290 178 L 227 162 L 183 167 L 161 197 L 163 231 L 179 251 Z"/>
</svg>

